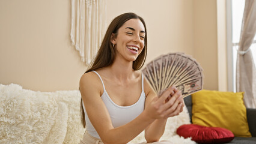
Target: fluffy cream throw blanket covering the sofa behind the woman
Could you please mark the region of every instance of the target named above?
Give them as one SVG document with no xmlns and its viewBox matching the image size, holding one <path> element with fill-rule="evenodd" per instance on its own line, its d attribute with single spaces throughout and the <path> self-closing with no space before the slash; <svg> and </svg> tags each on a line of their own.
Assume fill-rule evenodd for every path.
<svg viewBox="0 0 256 144">
<path fill-rule="evenodd" d="M 79 143 L 85 129 L 79 91 L 35 92 L 16 84 L 0 84 L 0 143 Z M 175 131 L 189 124 L 186 107 L 169 118 L 161 140 L 191 143 Z M 130 143 L 145 142 L 143 132 Z"/>
</svg>

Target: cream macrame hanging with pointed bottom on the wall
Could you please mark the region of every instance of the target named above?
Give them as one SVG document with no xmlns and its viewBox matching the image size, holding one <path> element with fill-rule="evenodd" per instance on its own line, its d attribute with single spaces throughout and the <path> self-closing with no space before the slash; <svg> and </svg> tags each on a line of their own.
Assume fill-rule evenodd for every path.
<svg viewBox="0 0 256 144">
<path fill-rule="evenodd" d="M 86 65 L 97 53 L 105 34 L 106 0 L 71 0 L 70 38 Z"/>
</svg>

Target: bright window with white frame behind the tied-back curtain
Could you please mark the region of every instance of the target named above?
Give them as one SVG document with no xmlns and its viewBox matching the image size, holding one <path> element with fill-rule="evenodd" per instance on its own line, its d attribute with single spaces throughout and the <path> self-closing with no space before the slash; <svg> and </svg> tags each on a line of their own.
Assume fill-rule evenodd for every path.
<svg viewBox="0 0 256 144">
<path fill-rule="evenodd" d="M 228 71 L 228 75 L 230 75 L 228 77 L 228 90 L 234 92 L 236 92 L 237 49 L 240 40 L 244 7 L 245 0 L 227 1 L 228 65 L 231 65 L 232 67 L 230 67 L 231 70 Z M 231 29 L 228 29 L 228 27 Z M 251 45 L 251 52 L 254 57 L 254 64 L 256 64 L 256 36 L 254 37 L 254 42 Z"/>
</svg>

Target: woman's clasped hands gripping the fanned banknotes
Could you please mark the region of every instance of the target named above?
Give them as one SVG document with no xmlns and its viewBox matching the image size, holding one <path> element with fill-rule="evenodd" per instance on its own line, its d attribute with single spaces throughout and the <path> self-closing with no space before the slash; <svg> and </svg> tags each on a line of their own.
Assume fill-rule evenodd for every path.
<svg viewBox="0 0 256 144">
<path fill-rule="evenodd" d="M 170 86 L 160 97 L 153 98 L 145 107 L 145 113 L 151 119 L 166 119 L 182 112 L 183 106 L 181 92 L 175 86 Z"/>
</svg>

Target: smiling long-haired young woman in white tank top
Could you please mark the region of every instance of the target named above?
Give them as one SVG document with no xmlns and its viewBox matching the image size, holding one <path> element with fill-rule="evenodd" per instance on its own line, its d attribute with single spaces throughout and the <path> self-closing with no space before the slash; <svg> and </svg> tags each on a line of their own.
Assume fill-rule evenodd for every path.
<svg viewBox="0 0 256 144">
<path fill-rule="evenodd" d="M 99 52 L 80 80 L 81 143 L 128 143 L 145 130 L 159 141 L 166 120 L 182 112 L 181 92 L 171 86 L 157 97 L 139 69 L 147 55 L 147 29 L 134 13 L 112 20 Z"/>
</svg>

